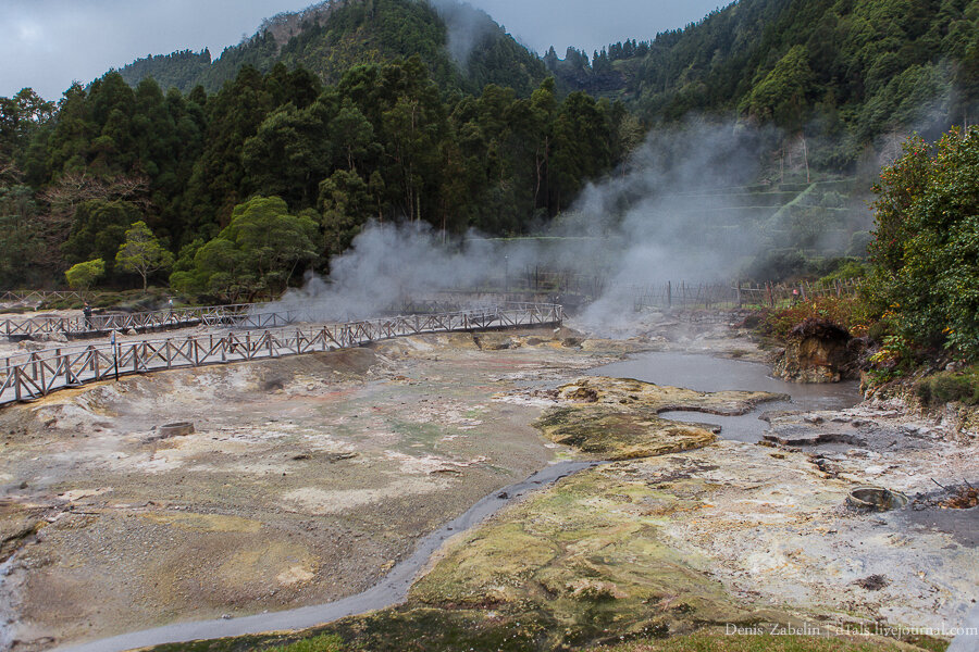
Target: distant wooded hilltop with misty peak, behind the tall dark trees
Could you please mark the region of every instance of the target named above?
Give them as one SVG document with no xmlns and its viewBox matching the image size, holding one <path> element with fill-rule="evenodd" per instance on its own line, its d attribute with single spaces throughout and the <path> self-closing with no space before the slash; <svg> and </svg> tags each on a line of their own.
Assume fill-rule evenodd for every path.
<svg viewBox="0 0 979 652">
<path fill-rule="evenodd" d="M 454 48 L 456 34 L 471 42 Z M 265 21 L 216 60 L 207 50 L 181 51 L 139 59 L 119 73 L 134 87 L 153 77 L 164 90 L 188 93 L 200 85 L 216 92 L 245 65 L 269 72 L 282 62 L 336 83 L 354 65 L 412 55 L 444 90 L 478 93 L 496 84 L 528 97 L 547 75 L 543 62 L 485 13 L 453 3 L 436 10 L 419 0 L 330 0 Z"/>
</svg>

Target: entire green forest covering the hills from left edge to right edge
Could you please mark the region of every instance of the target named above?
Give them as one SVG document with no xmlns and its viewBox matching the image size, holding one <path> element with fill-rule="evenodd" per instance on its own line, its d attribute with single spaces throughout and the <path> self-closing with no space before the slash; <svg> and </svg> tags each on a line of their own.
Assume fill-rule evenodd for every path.
<svg viewBox="0 0 979 652">
<path fill-rule="evenodd" d="M 784 184 L 854 179 L 894 135 L 934 139 L 979 114 L 975 0 L 742 0 L 565 59 L 460 12 L 474 10 L 324 3 L 214 60 L 174 52 L 57 102 L 0 98 L 0 287 L 60 286 L 74 268 L 78 287 L 240 301 L 327 272 L 370 220 L 528 234 L 628 167 L 646 129 L 690 114 L 777 127 L 757 181 L 814 199 L 773 204 L 791 251 L 816 238 L 813 211 L 842 214 L 870 180 Z M 463 18 L 482 25 L 464 60 L 449 48 Z M 805 175 L 772 172 L 800 142 Z M 157 252 L 149 267 L 122 254 L 134 247 Z"/>
</svg>

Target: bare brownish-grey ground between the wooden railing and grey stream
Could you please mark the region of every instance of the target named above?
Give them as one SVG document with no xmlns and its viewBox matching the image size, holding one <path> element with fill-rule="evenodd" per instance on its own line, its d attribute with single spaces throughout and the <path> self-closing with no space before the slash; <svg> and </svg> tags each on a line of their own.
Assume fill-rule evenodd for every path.
<svg viewBox="0 0 979 652">
<path fill-rule="evenodd" d="M 594 365 L 560 336 L 406 338 L 3 410 L 0 562 L 16 553 L 0 585 L 8 647 L 370 588 L 423 536 L 554 459 L 530 425 L 537 409 L 490 397 Z M 177 421 L 195 431 L 161 438 Z"/>
</svg>

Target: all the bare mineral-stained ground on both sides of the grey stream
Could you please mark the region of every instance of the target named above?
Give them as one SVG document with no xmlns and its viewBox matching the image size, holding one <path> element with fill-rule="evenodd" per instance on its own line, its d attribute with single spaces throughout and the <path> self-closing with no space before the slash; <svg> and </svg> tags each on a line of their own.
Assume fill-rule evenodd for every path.
<svg viewBox="0 0 979 652">
<path fill-rule="evenodd" d="M 0 412 L 14 649 L 356 592 L 555 457 L 615 462 L 460 535 L 405 605 L 326 631 L 379 650 L 544 650 L 759 623 L 956 626 L 979 599 L 979 442 L 961 419 L 876 401 L 770 413 L 766 440 L 742 443 L 710 415 L 777 397 L 580 377 L 648 348 L 765 360 L 740 321 L 406 338 Z M 706 423 L 657 416 L 678 409 Z M 196 432 L 158 439 L 169 421 Z M 862 485 L 909 504 L 857 510 Z"/>
</svg>

